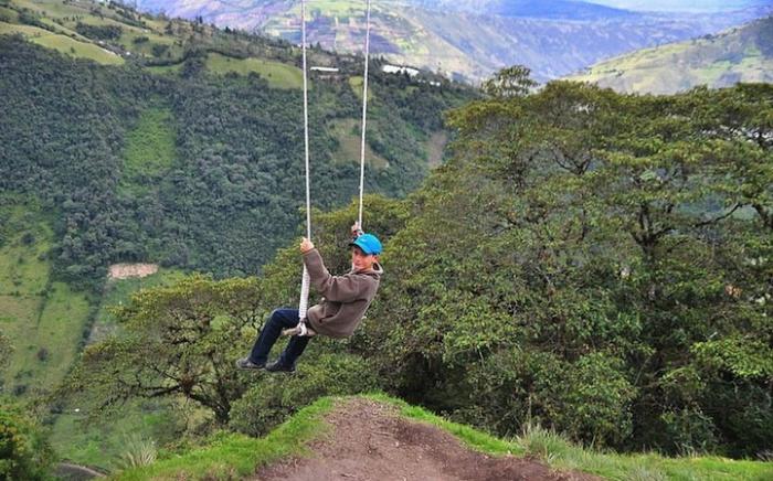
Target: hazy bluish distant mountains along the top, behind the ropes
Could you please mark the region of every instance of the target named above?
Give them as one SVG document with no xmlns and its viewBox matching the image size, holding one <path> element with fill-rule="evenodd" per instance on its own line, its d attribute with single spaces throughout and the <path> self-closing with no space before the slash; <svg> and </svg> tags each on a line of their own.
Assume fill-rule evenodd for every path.
<svg viewBox="0 0 773 481">
<path fill-rule="evenodd" d="M 140 9 L 298 42 L 299 2 L 138 0 Z M 359 52 L 364 2 L 310 2 L 309 39 L 340 52 Z M 717 33 L 770 11 L 770 3 L 738 3 L 721 12 L 633 12 L 584 1 L 372 2 L 373 52 L 393 62 L 479 81 L 513 64 L 538 81 L 557 78 L 643 47 Z"/>
</svg>

